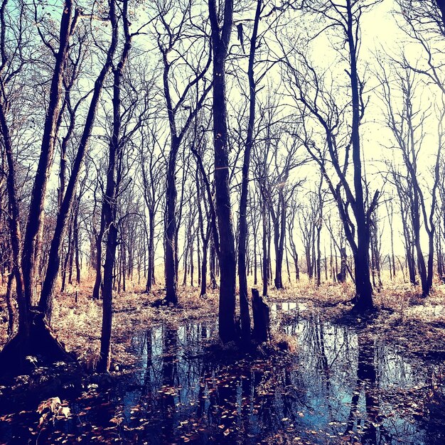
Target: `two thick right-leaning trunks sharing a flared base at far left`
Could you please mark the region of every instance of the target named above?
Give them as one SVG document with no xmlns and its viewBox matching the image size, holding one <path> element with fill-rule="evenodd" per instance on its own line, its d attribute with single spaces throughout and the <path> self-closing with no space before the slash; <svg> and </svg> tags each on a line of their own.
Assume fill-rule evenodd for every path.
<svg viewBox="0 0 445 445">
<path fill-rule="evenodd" d="M 114 8 L 114 1 L 110 4 L 110 10 Z M 63 80 L 65 71 L 68 69 L 68 54 L 70 52 L 70 39 L 75 33 L 77 21 L 81 16 L 80 9 L 75 8 L 71 1 L 65 1 L 63 14 L 60 19 L 60 31 L 58 37 L 57 49 L 54 47 L 53 41 L 46 41 L 41 33 L 40 28 L 38 32 L 43 40 L 43 43 L 48 48 L 50 53 L 55 58 L 55 64 L 51 75 L 50 82 L 50 96 L 48 102 L 48 109 L 45 115 L 45 123 L 43 125 L 43 135 L 41 140 L 41 154 L 38 159 L 38 168 L 33 183 L 33 192 L 31 194 L 31 203 L 28 213 L 28 223 L 26 226 L 26 235 L 23 242 L 23 252 L 21 255 L 21 269 L 23 279 L 18 279 L 17 289 L 23 283 L 23 304 L 21 310 L 23 312 L 22 328 L 20 328 L 17 335 L 7 343 L 1 354 L 6 360 L 11 363 L 11 367 L 20 366 L 23 364 L 25 355 L 40 353 L 43 358 L 50 360 L 71 360 L 72 358 L 65 352 L 65 348 L 53 336 L 45 321 L 45 314 L 48 314 L 50 309 L 50 299 L 53 294 L 53 287 L 55 278 L 57 277 L 60 265 L 60 245 L 65 232 L 66 221 L 73 205 L 73 198 L 77 181 L 80 174 L 80 166 L 85 158 L 87 149 L 87 142 L 90 137 L 92 124 L 95 118 L 95 110 L 97 101 L 100 97 L 104 78 L 109 70 L 110 58 L 114 52 L 113 43 L 107 50 L 107 61 L 104 63 L 102 70 L 95 83 L 92 100 L 90 102 L 89 111 L 83 127 L 80 145 L 75 156 L 75 163 L 73 164 L 73 171 L 70 176 L 70 181 L 63 196 L 63 202 L 60 205 L 53 238 L 51 240 L 50 252 L 48 255 L 48 267 L 46 268 L 45 280 L 42 286 L 41 296 L 38 302 L 37 310 L 31 311 L 31 301 L 33 294 L 33 282 L 36 272 L 36 264 L 41 254 L 41 240 L 43 227 L 43 204 L 46 196 L 46 187 L 48 185 L 49 171 L 53 164 L 53 155 L 55 151 L 55 141 L 58 138 L 60 112 L 62 112 L 63 101 Z M 110 16 L 114 16 L 110 14 Z M 112 40 L 113 42 L 113 40 Z M 11 163 L 11 187 L 14 177 L 14 163 Z M 14 204 L 14 193 L 10 195 L 10 201 Z M 18 226 L 15 225 L 13 236 L 18 240 L 17 231 Z M 19 251 L 16 251 L 18 253 Z M 18 264 L 18 258 L 17 258 Z M 18 294 L 22 294 L 22 290 L 17 290 Z M 19 299 L 22 297 L 19 297 Z M 24 355 L 23 355 L 24 354 Z"/>
</svg>

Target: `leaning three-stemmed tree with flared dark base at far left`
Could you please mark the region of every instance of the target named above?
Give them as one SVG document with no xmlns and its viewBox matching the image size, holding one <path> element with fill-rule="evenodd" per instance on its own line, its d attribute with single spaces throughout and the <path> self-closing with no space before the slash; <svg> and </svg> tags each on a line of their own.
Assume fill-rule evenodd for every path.
<svg viewBox="0 0 445 445">
<path fill-rule="evenodd" d="M 9 21 L 8 26 L 14 29 L 20 36 L 23 30 L 23 22 L 26 21 L 26 6 L 21 9 L 20 21 L 16 20 L 14 14 L 7 14 L 8 1 L 4 1 L 0 8 L 0 23 L 2 30 L 5 29 L 5 23 Z M 40 13 L 39 13 L 40 14 Z M 95 16 L 95 11 L 94 14 Z M 43 16 L 43 14 L 42 14 Z M 38 157 L 38 166 L 33 181 L 31 201 L 28 208 L 28 220 L 26 223 L 25 235 L 23 238 L 23 248 L 21 240 L 20 215 L 18 207 L 18 196 L 16 191 L 16 159 L 11 137 L 11 117 L 8 115 L 10 102 L 14 100 L 14 95 L 9 95 L 10 88 L 14 88 L 14 80 L 21 75 L 21 68 L 24 60 L 19 62 L 16 58 L 21 58 L 23 53 L 21 48 L 9 48 L 10 45 L 21 45 L 20 38 L 16 39 L 9 33 L 1 32 L 0 48 L 2 55 L 1 75 L 1 99 L 0 99 L 0 124 L 2 128 L 2 141 L 6 147 L 6 156 L 8 158 L 8 191 L 9 206 L 11 208 L 11 240 L 14 246 L 14 273 L 16 277 L 16 293 L 19 308 L 19 323 L 16 336 L 6 343 L 0 356 L 2 363 L 7 363 L 8 368 L 16 370 L 26 363 L 26 357 L 29 355 L 39 355 L 44 360 L 72 360 L 72 356 L 66 353 L 63 345 L 53 336 L 48 325 L 47 313 L 50 307 L 50 301 L 53 296 L 55 280 L 58 276 L 60 267 L 60 246 L 65 234 L 67 221 L 73 206 L 75 190 L 80 177 L 82 163 L 87 153 L 88 141 L 95 122 L 97 104 L 100 99 L 104 80 L 111 68 L 112 58 L 117 43 L 117 7 L 114 0 L 109 1 L 109 11 L 107 18 L 112 22 L 111 33 L 107 40 L 109 43 L 104 50 L 104 60 L 99 62 L 100 69 L 97 74 L 94 86 L 90 92 L 90 102 L 87 106 L 87 114 L 82 123 L 80 141 L 77 146 L 75 160 L 71 171 L 71 176 L 60 203 L 57 215 L 55 230 L 50 243 L 50 252 L 48 255 L 48 267 L 43 279 L 43 286 L 38 305 L 33 306 L 33 288 L 36 276 L 36 265 L 42 249 L 42 229 L 44 217 L 44 204 L 47 196 L 48 179 L 50 169 L 53 166 L 56 141 L 60 137 L 60 113 L 63 111 L 64 100 L 64 80 L 70 71 L 70 53 L 75 51 L 73 45 L 73 36 L 82 26 L 84 18 L 82 9 L 76 6 L 71 0 L 65 0 L 59 16 L 59 31 L 50 30 L 53 38 L 47 39 L 41 28 L 53 26 L 52 20 L 38 18 L 35 26 L 43 44 L 48 49 L 48 54 L 53 57 L 53 68 L 50 72 L 48 104 L 45 111 L 43 124 L 43 133 L 41 136 L 41 151 Z M 104 32 L 104 31 L 100 31 Z M 57 36 L 57 37 L 55 37 Z M 11 55 L 11 57 L 9 56 Z M 17 67 L 17 68 L 14 68 Z M 11 83 L 12 81 L 12 83 Z"/>
</svg>

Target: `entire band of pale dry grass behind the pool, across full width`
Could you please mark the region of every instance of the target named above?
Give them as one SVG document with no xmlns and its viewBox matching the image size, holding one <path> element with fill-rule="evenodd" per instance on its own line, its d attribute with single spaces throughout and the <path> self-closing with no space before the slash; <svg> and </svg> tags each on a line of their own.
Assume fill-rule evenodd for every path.
<svg viewBox="0 0 445 445">
<path fill-rule="evenodd" d="M 250 283 L 253 286 L 253 283 Z M 261 286 L 257 286 L 261 289 Z M 113 356 L 119 363 L 131 364 L 134 360 L 129 353 L 132 334 L 144 331 L 157 323 L 178 325 L 186 319 L 215 318 L 218 313 L 218 289 L 208 295 L 199 296 L 198 286 L 178 286 L 178 307 L 156 307 L 157 300 L 163 299 L 161 286 L 154 286 L 154 291 L 144 294 L 141 286 L 130 283 L 130 291 L 114 296 L 113 318 Z M 4 290 L 1 289 L 4 295 Z M 75 291 L 78 302 L 75 303 Z M 93 301 L 92 279 L 82 282 L 80 289 L 71 287 L 65 294 L 59 294 L 53 304 L 53 329 L 65 343 L 68 350 L 75 350 L 82 361 L 87 362 L 97 356 L 100 348 L 100 328 L 102 324 L 102 304 Z M 286 283 L 286 289 L 277 291 L 269 288 L 269 301 L 304 301 L 308 313 L 318 313 L 323 318 L 338 318 L 350 306 L 353 297 L 353 285 L 324 283 L 317 288 L 306 277 L 296 284 Z M 422 335 L 444 336 L 445 326 L 445 285 L 436 283 L 434 292 L 427 299 L 420 299 L 412 286 L 400 281 L 385 282 L 384 289 L 375 295 L 375 303 L 382 311 L 374 321 L 377 331 L 400 332 L 403 335 L 407 327 L 415 326 Z M 4 299 L 0 300 L 0 346 L 6 343 L 7 317 Z M 276 338 L 277 342 L 289 343 L 288 338 Z M 293 345 L 289 343 L 289 348 Z"/>
</svg>

